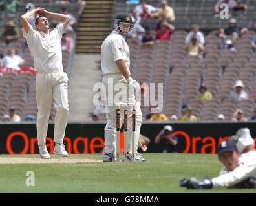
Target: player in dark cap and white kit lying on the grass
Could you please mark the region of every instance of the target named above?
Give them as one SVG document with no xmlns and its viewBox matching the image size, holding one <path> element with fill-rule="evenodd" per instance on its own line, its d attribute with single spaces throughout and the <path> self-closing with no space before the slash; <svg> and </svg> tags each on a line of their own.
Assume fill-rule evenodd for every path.
<svg viewBox="0 0 256 206">
<path fill-rule="evenodd" d="M 246 156 L 240 158 L 235 141 L 226 140 L 218 145 L 217 154 L 228 173 L 216 178 L 186 178 L 180 180 L 181 187 L 187 189 L 211 189 L 213 187 L 256 188 L 256 158 Z"/>
</svg>

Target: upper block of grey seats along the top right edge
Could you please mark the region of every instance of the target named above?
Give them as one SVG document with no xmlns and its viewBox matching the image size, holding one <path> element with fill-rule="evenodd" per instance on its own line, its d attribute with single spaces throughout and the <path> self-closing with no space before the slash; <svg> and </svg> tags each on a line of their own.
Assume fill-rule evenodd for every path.
<svg viewBox="0 0 256 206">
<path fill-rule="evenodd" d="M 162 0 L 147 0 L 147 3 L 159 8 L 161 1 Z M 176 20 L 173 25 L 176 29 L 189 30 L 191 25 L 198 24 L 201 30 L 211 31 L 228 24 L 228 19 L 222 20 L 213 18 L 213 8 L 217 0 L 168 0 L 167 2 L 168 5 L 175 10 Z M 248 11 L 238 19 L 238 23 L 251 28 L 256 21 L 254 10 L 256 2 L 254 0 L 248 0 L 247 3 L 249 5 Z M 134 5 L 127 5 L 126 1 L 116 0 L 114 15 L 118 12 L 127 12 L 133 7 Z M 150 20 L 149 25 L 155 28 L 156 20 Z"/>
</svg>

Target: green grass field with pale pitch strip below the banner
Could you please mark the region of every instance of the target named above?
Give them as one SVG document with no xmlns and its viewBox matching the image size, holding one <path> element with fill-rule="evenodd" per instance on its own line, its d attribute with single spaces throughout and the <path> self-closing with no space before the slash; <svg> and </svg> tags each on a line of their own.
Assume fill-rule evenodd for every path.
<svg viewBox="0 0 256 206">
<path fill-rule="evenodd" d="M 217 176 L 222 167 L 217 155 L 145 153 L 143 156 L 147 162 L 103 163 L 101 154 L 72 154 L 68 158 L 51 155 L 53 162 L 47 163 L 39 155 L 1 155 L 0 192 L 256 192 L 226 188 L 187 190 L 179 186 L 182 177 Z M 31 161 L 37 162 L 17 164 Z M 34 171 L 35 187 L 25 184 L 27 171 Z"/>
</svg>

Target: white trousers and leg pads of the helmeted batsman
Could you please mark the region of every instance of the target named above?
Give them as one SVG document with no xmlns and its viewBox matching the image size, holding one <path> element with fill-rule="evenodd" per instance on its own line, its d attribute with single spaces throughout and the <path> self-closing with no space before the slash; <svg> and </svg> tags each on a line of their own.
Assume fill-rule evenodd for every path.
<svg viewBox="0 0 256 206">
<path fill-rule="evenodd" d="M 116 151 L 116 105 L 114 103 L 113 98 L 116 97 L 118 94 L 123 94 L 127 96 L 127 81 L 123 75 L 119 73 L 105 75 L 103 77 L 103 85 L 106 89 L 106 116 L 107 116 L 107 124 L 105 126 L 105 136 L 104 136 L 104 152 L 114 154 Z M 116 91 L 114 86 L 124 85 L 125 89 L 123 91 Z M 135 103 L 135 95 L 131 94 L 129 97 L 129 102 Z M 126 103 L 126 102 L 124 102 Z M 123 122 L 123 109 L 124 107 L 120 107 L 120 124 L 122 125 Z M 136 102 L 135 104 L 136 109 L 136 126 L 135 126 L 135 151 L 138 149 L 138 138 L 140 136 L 140 126 L 142 125 L 142 111 L 140 109 L 140 102 Z M 131 132 L 131 111 L 132 107 L 128 107 L 128 136 L 129 136 L 129 153 L 132 151 L 131 141 L 132 141 L 132 132 Z"/>
</svg>

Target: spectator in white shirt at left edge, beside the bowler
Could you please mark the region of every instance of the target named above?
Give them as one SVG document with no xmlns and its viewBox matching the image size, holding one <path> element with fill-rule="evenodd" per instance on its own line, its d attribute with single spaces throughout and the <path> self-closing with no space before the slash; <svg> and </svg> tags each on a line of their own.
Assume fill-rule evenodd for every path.
<svg viewBox="0 0 256 206">
<path fill-rule="evenodd" d="M 0 64 L 2 68 L 12 68 L 14 70 L 21 70 L 25 60 L 21 56 L 16 55 L 16 50 L 11 49 L 8 55 L 1 59 Z"/>
</svg>

